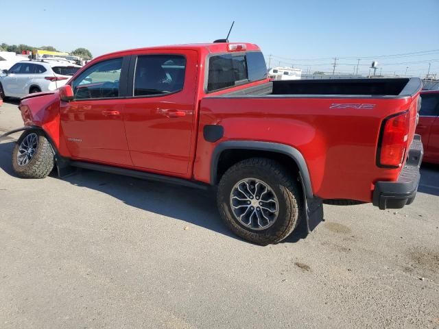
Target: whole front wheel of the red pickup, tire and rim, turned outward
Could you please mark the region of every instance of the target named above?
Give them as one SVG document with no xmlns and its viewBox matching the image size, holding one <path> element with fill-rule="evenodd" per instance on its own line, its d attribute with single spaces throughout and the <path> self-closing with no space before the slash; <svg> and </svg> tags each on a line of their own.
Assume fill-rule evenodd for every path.
<svg viewBox="0 0 439 329">
<path fill-rule="evenodd" d="M 12 168 L 23 178 L 49 175 L 54 169 L 54 151 L 42 132 L 23 132 L 12 153 Z"/>
</svg>

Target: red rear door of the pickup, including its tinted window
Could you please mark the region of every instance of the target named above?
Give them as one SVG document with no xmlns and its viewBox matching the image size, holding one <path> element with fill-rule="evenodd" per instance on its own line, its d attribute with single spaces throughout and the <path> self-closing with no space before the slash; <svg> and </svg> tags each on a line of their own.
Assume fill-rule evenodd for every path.
<svg viewBox="0 0 439 329">
<path fill-rule="evenodd" d="M 148 51 L 132 56 L 125 127 L 134 166 L 189 175 L 195 133 L 197 53 Z"/>
</svg>

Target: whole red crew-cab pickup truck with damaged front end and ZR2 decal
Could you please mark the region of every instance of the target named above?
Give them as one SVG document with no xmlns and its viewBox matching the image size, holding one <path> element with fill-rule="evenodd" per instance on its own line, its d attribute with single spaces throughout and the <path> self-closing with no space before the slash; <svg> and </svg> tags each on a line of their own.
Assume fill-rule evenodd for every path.
<svg viewBox="0 0 439 329">
<path fill-rule="evenodd" d="M 270 82 L 251 43 L 118 51 L 23 97 L 16 174 L 95 169 L 217 189 L 235 234 L 276 243 L 322 202 L 413 202 L 419 79 Z M 8 132 L 11 134 L 12 132 Z"/>
</svg>

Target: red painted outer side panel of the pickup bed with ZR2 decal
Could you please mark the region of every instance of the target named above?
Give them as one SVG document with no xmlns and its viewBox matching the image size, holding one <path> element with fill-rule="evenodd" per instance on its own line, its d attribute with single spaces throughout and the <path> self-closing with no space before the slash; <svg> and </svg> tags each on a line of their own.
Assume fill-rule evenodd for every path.
<svg viewBox="0 0 439 329">
<path fill-rule="evenodd" d="M 333 108 L 333 104 L 348 103 L 372 104 L 373 108 Z M 268 141 L 302 153 L 314 195 L 370 202 L 373 183 L 396 180 L 401 171 L 376 165 L 381 123 L 391 114 L 408 110 L 410 103 L 411 97 L 206 97 L 200 103 L 194 178 L 210 182 L 211 156 L 218 143 Z M 416 106 L 411 108 L 410 117 L 411 141 Z M 204 125 L 222 125 L 223 138 L 216 143 L 205 141 Z"/>
</svg>

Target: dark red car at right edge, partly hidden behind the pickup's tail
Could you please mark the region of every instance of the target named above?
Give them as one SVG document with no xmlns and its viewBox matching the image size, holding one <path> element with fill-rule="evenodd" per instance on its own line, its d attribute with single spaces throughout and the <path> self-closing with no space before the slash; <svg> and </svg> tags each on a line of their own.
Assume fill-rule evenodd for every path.
<svg viewBox="0 0 439 329">
<path fill-rule="evenodd" d="M 439 164 L 439 90 L 420 93 L 422 103 L 416 134 L 423 138 L 424 162 Z"/>
</svg>

